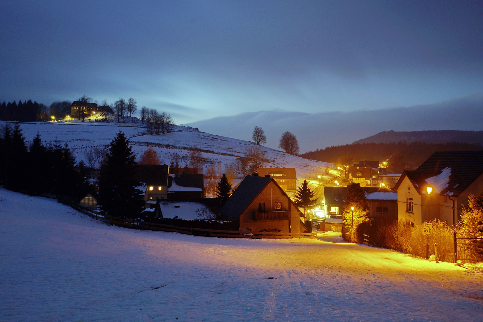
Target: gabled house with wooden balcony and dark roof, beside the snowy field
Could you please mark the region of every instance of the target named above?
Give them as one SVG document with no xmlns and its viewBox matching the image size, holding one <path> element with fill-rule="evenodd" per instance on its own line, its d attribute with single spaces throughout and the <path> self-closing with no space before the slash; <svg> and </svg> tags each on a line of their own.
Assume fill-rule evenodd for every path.
<svg viewBox="0 0 483 322">
<path fill-rule="evenodd" d="M 300 210 L 270 175 L 246 176 L 221 208 L 220 214 L 236 220 L 240 229 L 253 232 L 278 228 L 282 233 L 304 233 L 312 229 L 305 226 Z"/>
</svg>

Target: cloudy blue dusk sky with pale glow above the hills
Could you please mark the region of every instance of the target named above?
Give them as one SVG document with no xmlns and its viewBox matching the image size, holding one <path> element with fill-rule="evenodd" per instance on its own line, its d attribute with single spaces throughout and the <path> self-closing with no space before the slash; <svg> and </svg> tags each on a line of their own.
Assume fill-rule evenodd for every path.
<svg viewBox="0 0 483 322">
<path fill-rule="evenodd" d="M 83 94 L 178 124 L 483 92 L 482 1 L 1 1 L 0 100 Z"/>
</svg>

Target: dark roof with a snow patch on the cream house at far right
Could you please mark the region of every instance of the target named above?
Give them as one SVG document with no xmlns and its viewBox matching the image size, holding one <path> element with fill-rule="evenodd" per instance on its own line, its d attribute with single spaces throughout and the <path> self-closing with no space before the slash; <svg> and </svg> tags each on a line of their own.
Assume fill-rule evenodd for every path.
<svg viewBox="0 0 483 322">
<path fill-rule="evenodd" d="M 451 168 L 451 174 L 447 186 L 439 194 L 458 196 L 483 174 L 483 151 L 435 152 L 416 170 L 404 171 L 394 188 L 398 189 L 407 177 L 421 194 L 428 186 L 426 179 L 440 175 L 445 168 Z"/>
</svg>

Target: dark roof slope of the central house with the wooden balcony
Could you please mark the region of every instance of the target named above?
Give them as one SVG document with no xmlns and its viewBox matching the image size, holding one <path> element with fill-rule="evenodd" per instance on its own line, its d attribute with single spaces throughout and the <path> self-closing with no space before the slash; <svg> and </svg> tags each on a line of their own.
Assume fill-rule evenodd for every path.
<svg viewBox="0 0 483 322">
<path fill-rule="evenodd" d="M 246 176 L 223 205 L 220 213 L 231 219 L 237 219 L 272 180 L 268 177 Z"/>
</svg>

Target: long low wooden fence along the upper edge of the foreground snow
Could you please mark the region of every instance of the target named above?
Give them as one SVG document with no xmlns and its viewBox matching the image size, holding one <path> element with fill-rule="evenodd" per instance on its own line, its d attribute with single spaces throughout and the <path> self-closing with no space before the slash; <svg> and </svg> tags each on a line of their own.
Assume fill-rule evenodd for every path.
<svg viewBox="0 0 483 322">
<path fill-rule="evenodd" d="M 64 203 L 64 201 L 60 201 Z M 100 215 L 96 211 L 92 211 L 81 205 L 65 202 L 75 210 L 86 214 L 87 216 L 100 220 L 105 223 L 114 224 L 134 229 L 157 230 L 181 233 L 186 235 L 205 236 L 205 237 L 225 237 L 225 238 L 315 238 L 316 233 L 272 233 L 272 232 L 251 232 L 240 230 L 217 230 L 193 227 L 180 227 L 172 224 L 157 224 L 153 222 L 145 222 L 131 220 L 107 215 Z"/>
</svg>

